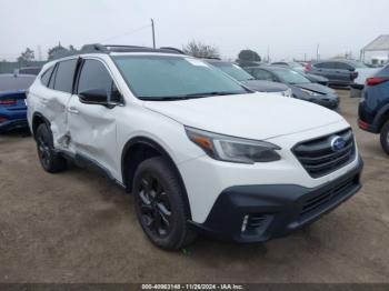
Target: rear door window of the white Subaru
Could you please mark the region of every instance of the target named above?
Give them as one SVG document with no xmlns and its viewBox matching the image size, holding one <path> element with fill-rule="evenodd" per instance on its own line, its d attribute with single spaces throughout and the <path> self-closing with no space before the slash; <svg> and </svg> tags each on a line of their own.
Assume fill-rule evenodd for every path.
<svg viewBox="0 0 389 291">
<path fill-rule="evenodd" d="M 54 90 L 68 93 L 72 92 L 76 66 L 77 59 L 61 61 L 58 63 L 54 80 Z"/>
</svg>

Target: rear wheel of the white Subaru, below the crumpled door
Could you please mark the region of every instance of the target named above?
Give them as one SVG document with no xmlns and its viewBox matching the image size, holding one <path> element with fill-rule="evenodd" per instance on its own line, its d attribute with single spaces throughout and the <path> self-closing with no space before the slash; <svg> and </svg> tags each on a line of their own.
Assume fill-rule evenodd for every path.
<svg viewBox="0 0 389 291">
<path fill-rule="evenodd" d="M 46 123 L 38 127 L 36 133 L 39 161 L 49 173 L 58 173 L 67 169 L 67 160 L 54 151 L 52 134 Z"/>
</svg>

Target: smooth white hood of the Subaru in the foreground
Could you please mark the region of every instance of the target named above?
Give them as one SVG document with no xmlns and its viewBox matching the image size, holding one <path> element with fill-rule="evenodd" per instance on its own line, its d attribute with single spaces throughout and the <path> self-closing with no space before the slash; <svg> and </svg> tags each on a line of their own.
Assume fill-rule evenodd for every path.
<svg viewBox="0 0 389 291">
<path fill-rule="evenodd" d="M 343 121 L 338 113 L 326 108 L 268 93 L 144 101 L 143 106 L 184 126 L 256 140 Z"/>
</svg>

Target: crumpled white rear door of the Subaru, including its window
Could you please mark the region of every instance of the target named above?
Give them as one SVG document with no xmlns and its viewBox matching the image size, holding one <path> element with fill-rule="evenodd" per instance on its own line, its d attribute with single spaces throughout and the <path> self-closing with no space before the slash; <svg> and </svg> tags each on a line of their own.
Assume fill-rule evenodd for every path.
<svg viewBox="0 0 389 291">
<path fill-rule="evenodd" d="M 40 96 L 42 113 L 51 123 L 54 147 L 59 149 L 68 146 L 67 106 L 72 93 L 77 62 L 78 59 L 58 62 L 49 81 L 51 90 Z"/>
</svg>

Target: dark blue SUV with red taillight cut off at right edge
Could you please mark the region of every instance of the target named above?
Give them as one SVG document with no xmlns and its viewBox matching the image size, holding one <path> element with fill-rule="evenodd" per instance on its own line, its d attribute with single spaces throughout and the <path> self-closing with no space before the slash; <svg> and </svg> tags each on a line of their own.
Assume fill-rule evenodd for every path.
<svg viewBox="0 0 389 291">
<path fill-rule="evenodd" d="M 389 64 L 367 79 L 358 124 L 362 130 L 380 133 L 382 149 L 389 154 Z"/>
</svg>

